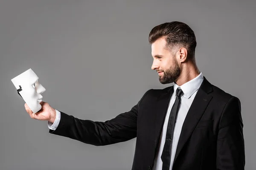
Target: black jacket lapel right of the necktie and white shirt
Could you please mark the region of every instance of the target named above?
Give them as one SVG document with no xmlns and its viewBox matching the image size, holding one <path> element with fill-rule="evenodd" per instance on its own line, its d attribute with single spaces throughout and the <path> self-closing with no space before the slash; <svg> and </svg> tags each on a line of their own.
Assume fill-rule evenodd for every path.
<svg viewBox="0 0 256 170">
<path fill-rule="evenodd" d="M 179 155 L 186 141 L 191 136 L 193 130 L 195 129 L 195 126 L 197 125 L 198 121 L 201 119 L 201 116 L 203 115 L 205 109 L 207 108 L 207 105 L 212 99 L 212 96 L 209 95 L 211 91 L 212 91 L 212 85 L 204 77 L 204 80 L 200 88 L 198 89 L 198 92 L 195 95 L 195 98 L 184 120 L 173 164 L 175 163 L 177 156 Z"/>
</svg>

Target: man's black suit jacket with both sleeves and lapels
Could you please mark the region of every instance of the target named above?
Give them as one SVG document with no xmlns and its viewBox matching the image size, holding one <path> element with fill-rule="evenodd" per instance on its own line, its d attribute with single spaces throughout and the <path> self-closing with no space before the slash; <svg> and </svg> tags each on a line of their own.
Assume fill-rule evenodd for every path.
<svg viewBox="0 0 256 170">
<path fill-rule="evenodd" d="M 61 112 L 56 130 L 96 146 L 137 137 L 132 170 L 150 170 L 173 86 L 148 90 L 131 111 L 105 122 L 81 120 Z M 239 99 L 204 77 L 180 133 L 172 170 L 244 170 L 244 136 Z"/>
</svg>

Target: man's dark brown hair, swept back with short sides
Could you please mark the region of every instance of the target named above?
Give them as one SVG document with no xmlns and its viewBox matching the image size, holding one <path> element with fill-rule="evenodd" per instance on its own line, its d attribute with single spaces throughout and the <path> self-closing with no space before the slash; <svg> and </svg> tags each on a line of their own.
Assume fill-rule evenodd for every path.
<svg viewBox="0 0 256 170">
<path fill-rule="evenodd" d="M 148 41 L 152 44 L 161 37 L 166 38 L 166 48 L 184 47 L 192 59 L 195 59 L 195 33 L 185 23 L 173 21 L 155 26 L 149 33 Z"/>
</svg>

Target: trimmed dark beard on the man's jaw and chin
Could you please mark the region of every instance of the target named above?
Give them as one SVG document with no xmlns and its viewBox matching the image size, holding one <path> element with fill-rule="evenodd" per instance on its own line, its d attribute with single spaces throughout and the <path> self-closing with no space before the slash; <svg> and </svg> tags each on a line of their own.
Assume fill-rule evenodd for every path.
<svg viewBox="0 0 256 170">
<path fill-rule="evenodd" d="M 180 67 L 178 65 L 177 60 L 174 58 L 174 66 L 171 66 L 166 71 L 163 71 L 162 77 L 159 77 L 159 81 L 162 84 L 168 84 L 175 82 L 177 78 L 180 76 Z"/>
</svg>

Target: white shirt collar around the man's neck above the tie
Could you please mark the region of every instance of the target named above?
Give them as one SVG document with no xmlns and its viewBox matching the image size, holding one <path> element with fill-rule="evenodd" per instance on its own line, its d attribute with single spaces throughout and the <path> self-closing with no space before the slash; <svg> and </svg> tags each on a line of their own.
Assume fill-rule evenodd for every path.
<svg viewBox="0 0 256 170">
<path fill-rule="evenodd" d="M 173 82 L 173 89 L 174 89 L 175 96 L 176 96 L 177 88 L 180 87 L 184 93 L 183 96 L 185 98 L 189 99 L 192 96 L 192 94 L 194 94 L 195 91 L 198 90 L 198 88 L 202 84 L 203 80 L 204 80 L 204 76 L 203 76 L 202 72 L 200 72 L 200 74 L 197 77 L 184 83 L 181 86 L 177 85 L 176 82 Z"/>
</svg>

